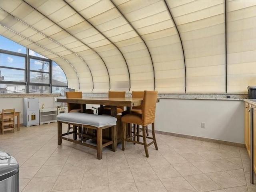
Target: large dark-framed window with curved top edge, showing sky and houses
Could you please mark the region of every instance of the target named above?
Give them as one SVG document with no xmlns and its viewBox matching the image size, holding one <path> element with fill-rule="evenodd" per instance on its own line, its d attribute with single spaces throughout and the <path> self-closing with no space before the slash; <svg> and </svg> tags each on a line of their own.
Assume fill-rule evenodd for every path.
<svg viewBox="0 0 256 192">
<path fill-rule="evenodd" d="M 0 36 L 0 93 L 60 93 L 67 87 L 58 64 Z"/>
</svg>

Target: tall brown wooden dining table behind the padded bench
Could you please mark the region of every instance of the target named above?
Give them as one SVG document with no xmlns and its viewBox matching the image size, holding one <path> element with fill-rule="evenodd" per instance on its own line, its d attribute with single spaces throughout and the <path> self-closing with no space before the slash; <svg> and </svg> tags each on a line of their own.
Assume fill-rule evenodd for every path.
<svg viewBox="0 0 256 192">
<path fill-rule="evenodd" d="M 142 105 L 142 98 L 108 98 L 108 97 L 83 97 L 83 98 L 57 98 L 57 102 L 81 104 L 81 112 L 86 109 L 86 104 L 109 105 L 111 108 L 111 116 L 116 117 L 117 121 L 117 142 L 122 140 L 122 124 L 121 115 L 116 114 L 116 106 L 124 106 L 130 112 L 133 106 Z M 159 102 L 159 99 L 158 101 Z M 109 132 L 103 132 L 103 136 L 110 138 Z"/>
</svg>

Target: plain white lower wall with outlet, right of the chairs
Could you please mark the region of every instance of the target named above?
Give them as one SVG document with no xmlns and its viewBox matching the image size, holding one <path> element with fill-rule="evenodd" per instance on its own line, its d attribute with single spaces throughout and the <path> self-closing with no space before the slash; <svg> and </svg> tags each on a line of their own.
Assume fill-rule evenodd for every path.
<svg viewBox="0 0 256 192">
<path fill-rule="evenodd" d="M 155 129 L 244 143 L 244 101 L 160 99 Z"/>
</svg>

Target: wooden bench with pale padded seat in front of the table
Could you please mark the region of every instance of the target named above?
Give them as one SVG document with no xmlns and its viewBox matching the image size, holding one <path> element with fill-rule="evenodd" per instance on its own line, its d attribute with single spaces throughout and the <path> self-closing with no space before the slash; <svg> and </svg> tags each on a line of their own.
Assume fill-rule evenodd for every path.
<svg viewBox="0 0 256 192">
<path fill-rule="evenodd" d="M 81 144 L 97 150 L 97 158 L 102 159 L 102 148 L 108 145 L 112 145 L 112 150 L 116 151 L 117 138 L 116 138 L 116 118 L 105 115 L 94 115 L 79 112 L 63 113 L 57 116 L 58 122 L 58 145 L 61 145 L 62 139 L 68 140 L 73 143 Z M 96 130 L 96 137 L 88 136 L 83 133 L 78 133 L 76 128 L 72 132 L 69 130 L 66 133 L 62 133 L 62 123 L 73 125 L 74 127 L 82 127 L 82 130 L 86 128 Z M 102 130 L 111 128 L 111 140 L 102 138 Z M 81 136 L 81 140 L 74 140 L 69 138 L 69 134 L 78 134 Z M 64 137 L 67 136 L 67 137 Z M 89 138 L 96 139 L 96 146 L 85 142 Z M 104 143 L 103 143 L 104 142 Z"/>
</svg>

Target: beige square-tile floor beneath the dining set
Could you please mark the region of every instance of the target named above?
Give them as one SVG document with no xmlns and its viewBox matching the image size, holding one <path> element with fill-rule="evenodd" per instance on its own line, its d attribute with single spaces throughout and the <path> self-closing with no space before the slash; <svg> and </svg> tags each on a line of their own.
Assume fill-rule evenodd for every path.
<svg viewBox="0 0 256 192">
<path fill-rule="evenodd" d="M 64 127 L 65 130 L 65 127 Z M 57 124 L 0 135 L 0 150 L 20 165 L 20 192 L 256 192 L 245 148 L 157 134 L 159 150 L 57 144 Z M 256 181 L 255 181 L 256 183 Z"/>
</svg>

